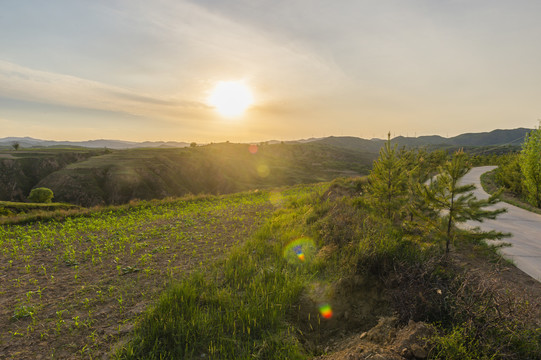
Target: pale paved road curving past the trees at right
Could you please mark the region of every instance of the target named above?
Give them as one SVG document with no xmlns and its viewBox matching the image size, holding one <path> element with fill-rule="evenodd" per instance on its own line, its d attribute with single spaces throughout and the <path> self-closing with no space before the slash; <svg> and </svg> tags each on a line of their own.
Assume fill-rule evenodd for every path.
<svg viewBox="0 0 541 360">
<path fill-rule="evenodd" d="M 466 174 L 461 183 L 475 184 L 474 191 L 478 199 L 488 198 L 480 183 L 481 174 L 496 168 L 481 166 L 473 168 Z M 483 230 L 510 232 L 513 235 L 503 241 L 512 244 L 502 248 L 505 258 L 512 260 L 526 274 L 541 282 L 541 215 L 526 211 L 513 205 L 500 202 L 494 208 L 507 208 L 507 213 L 501 214 L 496 220 L 485 220 L 482 223 L 469 221 L 469 226 L 479 226 Z"/>
</svg>

